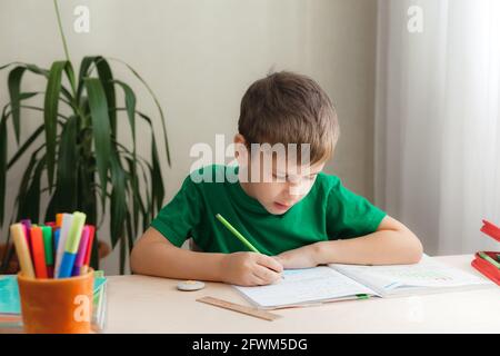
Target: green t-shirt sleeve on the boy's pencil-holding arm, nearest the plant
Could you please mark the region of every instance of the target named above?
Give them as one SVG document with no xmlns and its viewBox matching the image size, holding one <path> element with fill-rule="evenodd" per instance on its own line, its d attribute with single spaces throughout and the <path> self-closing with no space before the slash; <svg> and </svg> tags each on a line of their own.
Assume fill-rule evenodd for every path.
<svg viewBox="0 0 500 356">
<path fill-rule="evenodd" d="M 151 222 L 154 229 L 177 247 L 191 236 L 203 216 L 202 197 L 197 186 L 188 176 L 173 199 L 161 208 Z"/>
</svg>

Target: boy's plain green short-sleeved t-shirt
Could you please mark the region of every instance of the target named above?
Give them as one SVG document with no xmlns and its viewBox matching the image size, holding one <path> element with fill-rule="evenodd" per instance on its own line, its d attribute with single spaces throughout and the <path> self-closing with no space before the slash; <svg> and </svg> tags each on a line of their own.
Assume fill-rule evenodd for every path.
<svg viewBox="0 0 500 356">
<path fill-rule="evenodd" d="M 210 176 L 211 181 L 196 182 Z M 237 166 L 213 165 L 193 171 L 151 226 L 178 247 L 192 237 L 206 253 L 248 251 L 216 218 L 221 214 L 260 253 L 272 256 L 317 241 L 371 234 L 386 216 L 344 188 L 340 178 L 324 172 L 318 175 L 309 194 L 282 215 L 268 212 L 237 179 Z"/>
</svg>

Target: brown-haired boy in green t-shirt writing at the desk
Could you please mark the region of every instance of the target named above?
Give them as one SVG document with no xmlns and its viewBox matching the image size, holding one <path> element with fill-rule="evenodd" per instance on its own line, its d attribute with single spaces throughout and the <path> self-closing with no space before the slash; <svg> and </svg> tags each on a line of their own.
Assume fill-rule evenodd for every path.
<svg viewBox="0 0 500 356">
<path fill-rule="evenodd" d="M 278 72 L 256 81 L 242 98 L 238 130 L 238 167 L 204 167 L 186 178 L 136 244 L 134 273 L 256 286 L 277 281 L 283 268 L 420 260 L 422 246 L 404 225 L 321 172 L 339 127 L 313 80 Z M 256 152 L 256 144 L 267 149 Z M 284 157 L 269 151 L 278 144 Z M 293 145 L 307 150 L 297 155 Z M 260 254 L 248 251 L 217 214 Z M 181 249 L 188 237 L 203 253 Z"/>
</svg>

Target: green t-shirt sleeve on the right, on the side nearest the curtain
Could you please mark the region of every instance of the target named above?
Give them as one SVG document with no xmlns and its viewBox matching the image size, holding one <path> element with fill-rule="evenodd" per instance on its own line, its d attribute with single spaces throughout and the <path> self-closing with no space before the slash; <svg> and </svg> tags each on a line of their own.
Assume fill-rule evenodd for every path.
<svg viewBox="0 0 500 356">
<path fill-rule="evenodd" d="M 330 239 L 374 233 L 387 215 L 364 197 L 343 187 L 340 179 L 331 187 L 327 204 L 327 233 Z"/>
</svg>

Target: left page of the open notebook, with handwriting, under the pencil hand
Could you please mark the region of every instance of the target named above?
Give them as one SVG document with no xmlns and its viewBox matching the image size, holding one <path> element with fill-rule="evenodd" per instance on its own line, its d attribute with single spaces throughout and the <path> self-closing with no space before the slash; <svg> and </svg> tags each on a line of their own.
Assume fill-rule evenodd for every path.
<svg viewBox="0 0 500 356">
<path fill-rule="evenodd" d="M 280 281 L 258 287 L 234 286 L 253 304 L 269 308 L 317 303 L 357 294 L 376 295 L 368 287 L 326 267 L 287 269 Z"/>
</svg>

